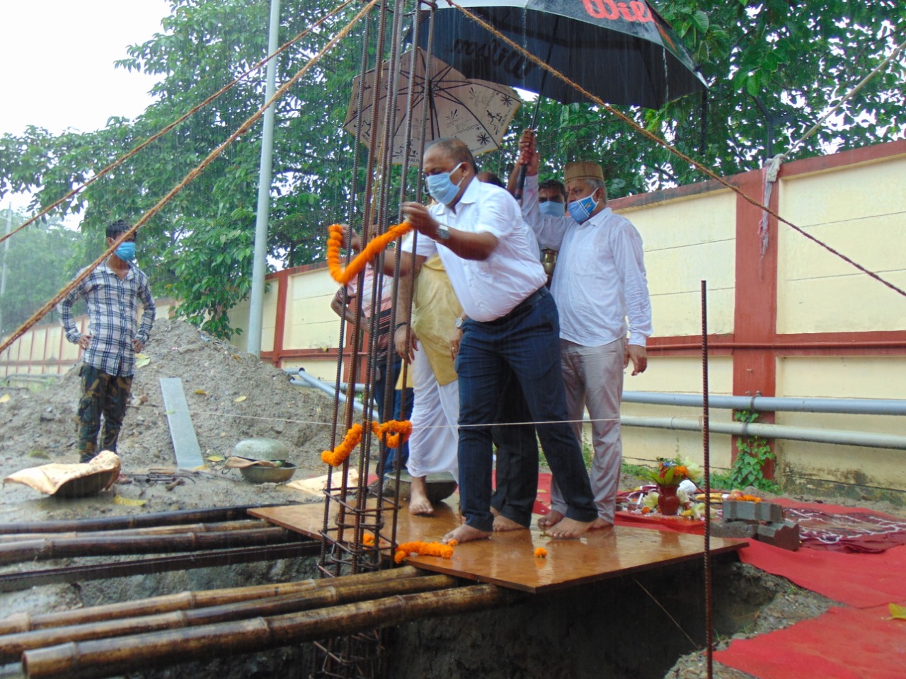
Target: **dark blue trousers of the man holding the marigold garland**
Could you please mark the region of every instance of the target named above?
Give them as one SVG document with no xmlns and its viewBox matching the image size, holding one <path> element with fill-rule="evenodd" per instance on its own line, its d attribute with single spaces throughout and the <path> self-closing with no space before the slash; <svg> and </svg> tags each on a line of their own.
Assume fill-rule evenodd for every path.
<svg viewBox="0 0 906 679">
<path fill-rule="evenodd" d="M 567 424 L 560 368 L 560 320 L 545 288 L 506 316 L 467 320 L 459 345 L 459 493 L 467 525 L 491 531 L 491 425 L 506 398 L 510 373 L 525 396 L 545 459 L 566 502 L 566 516 L 594 521 L 592 487 L 582 447 Z M 514 451 L 532 454 L 530 448 Z M 525 468 L 525 464 L 523 465 Z M 526 483 L 526 480 L 522 480 Z M 534 483 L 534 482 L 532 482 Z"/>
</svg>

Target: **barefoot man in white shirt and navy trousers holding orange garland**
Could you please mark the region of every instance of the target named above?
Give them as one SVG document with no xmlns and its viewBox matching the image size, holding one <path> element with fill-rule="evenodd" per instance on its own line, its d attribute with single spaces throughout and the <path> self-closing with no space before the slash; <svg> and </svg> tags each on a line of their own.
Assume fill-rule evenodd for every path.
<svg viewBox="0 0 906 679">
<path fill-rule="evenodd" d="M 596 512 L 582 449 L 565 421 L 559 320 L 535 239 L 505 189 L 475 180 L 475 160 L 460 140 L 431 143 L 423 161 L 437 205 L 406 203 L 403 211 L 421 236 L 416 253 L 439 253 L 467 314 L 456 359 L 464 522 L 444 540 L 480 540 L 493 530 L 490 430 L 510 372 L 540 423 L 538 438 L 564 497 L 564 519 L 548 534 L 579 537 Z"/>
</svg>

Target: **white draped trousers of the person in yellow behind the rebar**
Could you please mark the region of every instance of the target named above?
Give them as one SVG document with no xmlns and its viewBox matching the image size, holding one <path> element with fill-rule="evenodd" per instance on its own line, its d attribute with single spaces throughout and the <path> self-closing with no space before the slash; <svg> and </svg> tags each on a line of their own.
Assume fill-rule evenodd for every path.
<svg viewBox="0 0 906 679">
<path fill-rule="evenodd" d="M 410 369 L 415 400 L 406 469 L 413 477 L 449 472 L 458 481 L 459 382 L 441 387 L 424 351 L 415 352 Z"/>
</svg>

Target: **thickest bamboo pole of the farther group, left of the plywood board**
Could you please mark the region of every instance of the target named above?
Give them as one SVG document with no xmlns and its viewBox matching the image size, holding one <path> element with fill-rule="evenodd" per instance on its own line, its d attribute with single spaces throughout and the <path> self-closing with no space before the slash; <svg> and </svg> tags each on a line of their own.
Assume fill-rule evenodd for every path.
<svg viewBox="0 0 906 679">
<path fill-rule="evenodd" d="M 21 561 L 102 557 L 122 554 L 168 554 L 174 551 L 218 550 L 225 547 L 269 545 L 302 539 L 299 533 L 284 528 L 262 528 L 255 531 L 228 533 L 175 533 L 145 537 L 63 538 L 63 540 L 27 540 L 0 545 L 0 565 Z"/>
</svg>

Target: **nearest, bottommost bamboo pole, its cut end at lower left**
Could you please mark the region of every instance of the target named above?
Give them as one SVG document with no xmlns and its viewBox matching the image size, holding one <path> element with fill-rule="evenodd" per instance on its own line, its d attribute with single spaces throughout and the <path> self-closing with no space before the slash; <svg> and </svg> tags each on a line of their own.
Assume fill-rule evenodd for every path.
<svg viewBox="0 0 906 679">
<path fill-rule="evenodd" d="M 414 619 L 504 606 L 521 597 L 494 585 L 372 599 L 275 617 L 120 636 L 25 651 L 28 679 L 95 679 L 151 667 L 263 651 L 333 636 L 347 636 Z"/>
</svg>

